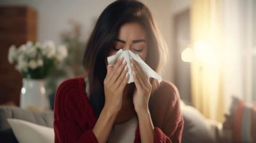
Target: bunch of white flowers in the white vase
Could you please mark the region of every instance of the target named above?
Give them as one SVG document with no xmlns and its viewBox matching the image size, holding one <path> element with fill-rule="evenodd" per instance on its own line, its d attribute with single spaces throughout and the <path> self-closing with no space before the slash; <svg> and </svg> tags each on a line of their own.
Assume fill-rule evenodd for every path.
<svg viewBox="0 0 256 143">
<path fill-rule="evenodd" d="M 53 41 L 39 43 L 28 41 L 19 48 L 12 45 L 8 61 L 16 64 L 15 68 L 26 79 L 44 79 L 51 68 L 67 57 L 65 45 L 56 46 Z"/>
</svg>

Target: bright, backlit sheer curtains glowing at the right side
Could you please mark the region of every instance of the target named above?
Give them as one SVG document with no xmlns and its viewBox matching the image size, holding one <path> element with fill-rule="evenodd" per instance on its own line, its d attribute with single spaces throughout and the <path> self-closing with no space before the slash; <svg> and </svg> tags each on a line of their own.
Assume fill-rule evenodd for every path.
<svg viewBox="0 0 256 143">
<path fill-rule="evenodd" d="M 256 1 L 192 0 L 193 105 L 223 121 L 231 96 L 256 102 Z"/>
</svg>

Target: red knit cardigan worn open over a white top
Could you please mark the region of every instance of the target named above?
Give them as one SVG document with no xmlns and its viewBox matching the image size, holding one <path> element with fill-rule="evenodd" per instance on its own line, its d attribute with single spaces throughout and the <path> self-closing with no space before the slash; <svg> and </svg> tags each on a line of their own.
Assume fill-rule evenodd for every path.
<svg viewBox="0 0 256 143">
<path fill-rule="evenodd" d="M 65 80 L 56 91 L 54 102 L 55 142 L 98 142 L 92 132 L 97 122 L 85 92 L 83 77 Z M 180 112 L 179 92 L 170 82 L 162 81 L 150 95 L 148 103 L 154 124 L 154 142 L 181 142 L 183 117 Z M 136 128 L 134 143 L 140 141 Z"/>
</svg>

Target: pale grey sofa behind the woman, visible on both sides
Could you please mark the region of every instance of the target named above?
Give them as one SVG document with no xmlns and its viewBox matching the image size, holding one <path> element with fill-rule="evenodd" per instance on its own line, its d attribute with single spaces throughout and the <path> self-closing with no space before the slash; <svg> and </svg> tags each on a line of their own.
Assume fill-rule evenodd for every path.
<svg viewBox="0 0 256 143">
<path fill-rule="evenodd" d="M 229 142 L 230 133 L 223 131 L 222 124 L 206 119 L 195 108 L 181 103 L 181 110 L 184 117 L 184 130 L 182 143 L 214 143 Z M 53 112 L 36 112 L 24 110 L 19 107 L 0 106 L 0 139 L 1 142 L 18 142 L 7 119 L 21 119 L 30 123 L 39 124 L 52 128 Z"/>
</svg>

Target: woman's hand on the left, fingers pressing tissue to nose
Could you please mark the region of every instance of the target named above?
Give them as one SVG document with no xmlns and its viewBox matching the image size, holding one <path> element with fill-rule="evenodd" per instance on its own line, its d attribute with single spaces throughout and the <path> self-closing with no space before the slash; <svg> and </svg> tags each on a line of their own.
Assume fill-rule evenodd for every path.
<svg viewBox="0 0 256 143">
<path fill-rule="evenodd" d="M 123 61 L 124 57 L 118 59 L 114 66 L 108 66 L 108 73 L 104 79 L 104 108 L 113 114 L 117 114 L 122 107 L 123 91 L 129 79 L 127 62 L 123 63 Z"/>
</svg>

